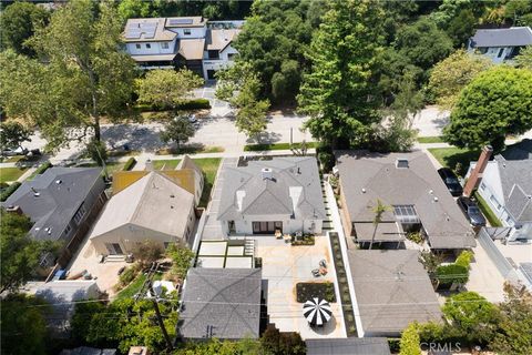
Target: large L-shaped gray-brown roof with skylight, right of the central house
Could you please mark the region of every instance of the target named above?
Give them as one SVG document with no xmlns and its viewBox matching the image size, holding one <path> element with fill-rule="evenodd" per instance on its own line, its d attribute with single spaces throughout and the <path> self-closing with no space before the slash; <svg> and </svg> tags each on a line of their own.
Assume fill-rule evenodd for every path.
<svg viewBox="0 0 532 355">
<path fill-rule="evenodd" d="M 379 199 L 386 205 L 413 205 L 433 248 L 475 245 L 469 223 L 422 151 L 338 151 L 336 159 L 351 222 L 371 222 Z M 408 159 L 408 168 L 396 168 L 397 159 Z M 383 221 L 396 221 L 393 212 Z"/>
</svg>

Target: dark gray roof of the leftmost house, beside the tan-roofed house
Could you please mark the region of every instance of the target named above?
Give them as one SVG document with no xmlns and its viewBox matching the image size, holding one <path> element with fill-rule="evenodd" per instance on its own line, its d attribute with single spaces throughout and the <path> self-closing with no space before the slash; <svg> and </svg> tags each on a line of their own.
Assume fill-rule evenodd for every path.
<svg viewBox="0 0 532 355">
<path fill-rule="evenodd" d="M 2 206 L 20 206 L 34 222 L 34 239 L 59 240 L 101 173 L 101 168 L 50 168 L 23 182 Z"/>
</svg>

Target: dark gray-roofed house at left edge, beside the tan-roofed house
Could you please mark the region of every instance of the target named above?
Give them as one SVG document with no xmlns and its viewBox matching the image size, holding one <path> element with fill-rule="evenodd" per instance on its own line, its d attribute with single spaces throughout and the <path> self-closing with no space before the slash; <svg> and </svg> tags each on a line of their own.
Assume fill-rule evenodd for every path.
<svg viewBox="0 0 532 355">
<path fill-rule="evenodd" d="M 50 168 L 22 183 L 2 206 L 31 219 L 33 239 L 61 242 L 57 262 L 66 266 L 108 200 L 104 190 L 100 168 Z M 43 255 L 41 267 L 54 264 L 53 255 Z"/>
</svg>

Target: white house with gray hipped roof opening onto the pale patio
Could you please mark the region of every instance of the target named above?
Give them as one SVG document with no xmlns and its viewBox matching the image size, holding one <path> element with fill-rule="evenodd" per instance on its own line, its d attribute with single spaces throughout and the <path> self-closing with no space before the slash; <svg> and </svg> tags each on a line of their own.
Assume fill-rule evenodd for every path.
<svg viewBox="0 0 532 355">
<path fill-rule="evenodd" d="M 226 235 L 321 233 L 326 213 L 316 158 L 274 158 L 227 168 L 218 211 Z"/>
</svg>

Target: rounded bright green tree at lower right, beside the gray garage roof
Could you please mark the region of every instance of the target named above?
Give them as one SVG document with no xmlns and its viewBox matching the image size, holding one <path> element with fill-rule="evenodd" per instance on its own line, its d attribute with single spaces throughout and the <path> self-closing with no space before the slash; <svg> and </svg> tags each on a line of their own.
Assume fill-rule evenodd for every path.
<svg viewBox="0 0 532 355">
<path fill-rule="evenodd" d="M 495 336 L 501 321 L 499 308 L 475 292 L 462 292 L 449 297 L 442 311 L 452 326 L 471 343 L 489 343 Z"/>
</svg>

